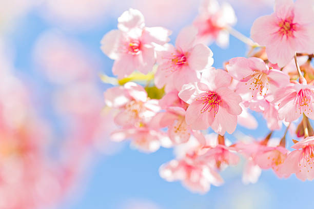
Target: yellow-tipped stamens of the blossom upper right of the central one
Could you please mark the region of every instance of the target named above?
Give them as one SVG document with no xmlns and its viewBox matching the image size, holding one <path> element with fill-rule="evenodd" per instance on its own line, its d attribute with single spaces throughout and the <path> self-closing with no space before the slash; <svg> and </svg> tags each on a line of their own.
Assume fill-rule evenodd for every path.
<svg viewBox="0 0 314 209">
<path fill-rule="evenodd" d="M 266 95 L 268 90 L 268 82 L 269 80 L 266 73 L 255 72 L 251 75 L 251 78 L 245 83 L 245 85 L 248 85 L 249 90 L 259 91 L 260 95 L 263 93 Z"/>
</svg>

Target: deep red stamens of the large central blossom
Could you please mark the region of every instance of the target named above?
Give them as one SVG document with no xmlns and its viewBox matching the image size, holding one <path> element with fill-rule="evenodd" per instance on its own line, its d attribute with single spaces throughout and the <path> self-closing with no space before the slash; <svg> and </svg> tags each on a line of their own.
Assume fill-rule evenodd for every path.
<svg viewBox="0 0 314 209">
<path fill-rule="evenodd" d="M 216 116 L 221 102 L 221 98 L 216 92 L 207 91 L 205 95 L 202 95 L 199 98 L 197 98 L 197 101 L 203 102 L 203 108 L 201 110 L 201 113 L 204 113 L 207 110 L 208 112 L 213 110 L 214 117 Z"/>
</svg>

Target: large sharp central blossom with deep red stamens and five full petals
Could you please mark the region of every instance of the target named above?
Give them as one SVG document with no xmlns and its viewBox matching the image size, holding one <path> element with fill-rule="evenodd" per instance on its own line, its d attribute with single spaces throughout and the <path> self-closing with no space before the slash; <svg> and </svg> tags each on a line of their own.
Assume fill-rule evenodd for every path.
<svg viewBox="0 0 314 209">
<path fill-rule="evenodd" d="M 224 135 L 233 133 L 242 108 L 241 97 L 228 86 L 231 76 L 223 70 L 211 69 L 202 73 L 200 82 L 182 87 L 179 97 L 190 106 L 186 111 L 186 123 L 195 130 L 211 127 Z"/>
</svg>

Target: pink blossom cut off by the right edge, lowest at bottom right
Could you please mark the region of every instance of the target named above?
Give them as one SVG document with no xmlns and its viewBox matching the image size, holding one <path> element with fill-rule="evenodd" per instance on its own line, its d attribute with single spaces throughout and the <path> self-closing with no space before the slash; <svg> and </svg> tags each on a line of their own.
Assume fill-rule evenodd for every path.
<svg viewBox="0 0 314 209">
<path fill-rule="evenodd" d="M 292 146 L 297 149 L 288 154 L 281 172 L 289 176 L 295 173 L 297 178 L 305 181 L 314 179 L 314 137 L 307 137 Z"/>
</svg>

